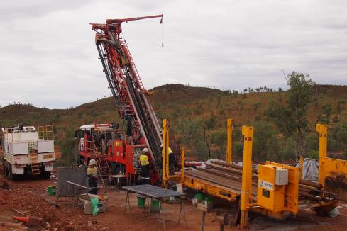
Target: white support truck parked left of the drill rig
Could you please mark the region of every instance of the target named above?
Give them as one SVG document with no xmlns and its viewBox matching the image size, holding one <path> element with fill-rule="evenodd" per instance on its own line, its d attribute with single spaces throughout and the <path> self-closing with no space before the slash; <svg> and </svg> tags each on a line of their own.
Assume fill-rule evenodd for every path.
<svg viewBox="0 0 347 231">
<path fill-rule="evenodd" d="M 53 126 L 2 128 L 2 166 L 11 181 L 25 175 L 50 177 L 55 162 Z"/>
</svg>

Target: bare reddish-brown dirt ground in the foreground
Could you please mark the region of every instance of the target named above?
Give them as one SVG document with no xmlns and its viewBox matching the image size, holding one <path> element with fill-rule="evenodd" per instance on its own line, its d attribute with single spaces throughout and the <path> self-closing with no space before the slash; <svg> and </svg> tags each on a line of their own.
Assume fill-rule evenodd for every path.
<svg viewBox="0 0 347 231">
<path fill-rule="evenodd" d="M 32 179 L 9 183 L 10 190 L 0 189 L 0 222 L 11 222 L 12 215 L 18 215 L 11 210 L 18 210 L 26 215 L 36 215 L 50 223 L 48 230 L 163 230 L 163 226 L 156 221 L 156 216 L 136 208 L 136 195 L 131 197 L 131 215 L 123 214 L 126 193 L 109 190 L 109 206 L 106 213 L 97 216 L 84 215 L 81 208 L 73 205 L 61 205 L 55 208 L 46 200 L 55 201 L 55 196 L 48 196 L 45 188 L 55 183 L 54 179 Z M 168 209 L 167 218 L 173 218 L 178 213 L 178 205 L 165 205 Z M 187 227 L 167 222 L 167 230 L 199 230 L 199 210 L 187 201 Z M 347 205 L 339 208 L 341 216 L 338 218 L 321 218 L 309 210 L 304 210 L 299 219 L 287 219 L 283 222 L 265 218 L 260 215 L 250 215 L 250 230 L 346 230 Z M 212 215 L 206 216 L 205 230 L 219 230 Z M 228 227 L 226 230 L 238 230 Z M 9 230 L 1 227 L 0 230 Z M 14 230 L 18 230 L 15 228 Z"/>
</svg>

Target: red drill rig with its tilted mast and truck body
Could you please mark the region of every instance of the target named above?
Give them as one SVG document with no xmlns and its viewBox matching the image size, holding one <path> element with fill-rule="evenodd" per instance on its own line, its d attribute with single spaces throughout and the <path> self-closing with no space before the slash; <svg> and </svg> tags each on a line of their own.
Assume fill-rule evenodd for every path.
<svg viewBox="0 0 347 231">
<path fill-rule="evenodd" d="M 148 92 L 143 86 L 128 45 L 121 38 L 122 23 L 146 18 L 160 18 L 160 23 L 163 22 L 163 15 L 155 15 L 107 19 L 106 23 L 102 24 L 90 23 L 92 30 L 96 31 L 95 43 L 99 52 L 99 59 L 104 68 L 103 72 L 106 75 L 116 107 L 119 108 L 119 116 L 127 122 L 126 135 L 120 135 L 119 139 L 110 139 L 111 142 L 106 140 L 110 144 L 106 149 L 107 153 L 99 154 L 106 155 L 109 164 L 122 164 L 128 176 L 136 175 L 137 158 L 143 147 L 148 147 L 150 164 L 156 170 L 160 169 L 162 157 L 160 146 L 163 139 L 160 123 L 148 100 Z M 98 125 L 94 125 L 92 129 L 97 129 L 97 127 Z M 111 130 L 111 126 L 109 126 L 109 130 Z M 93 143 L 91 145 L 86 143 L 82 152 L 79 152 L 86 162 L 88 158 L 93 158 L 91 154 L 88 154 L 88 152 L 95 150 L 95 148 L 90 148 Z M 173 148 L 177 150 L 177 154 L 180 154 L 178 145 L 172 145 L 175 146 Z M 154 179 L 159 179 L 158 171 L 152 172 L 154 174 L 150 176 L 151 183 L 155 182 Z"/>
</svg>

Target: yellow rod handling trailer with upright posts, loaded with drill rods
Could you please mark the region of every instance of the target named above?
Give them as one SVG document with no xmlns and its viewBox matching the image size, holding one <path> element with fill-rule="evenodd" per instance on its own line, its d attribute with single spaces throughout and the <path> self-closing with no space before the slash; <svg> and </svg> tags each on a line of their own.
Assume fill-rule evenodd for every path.
<svg viewBox="0 0 347 231">
<path fill-rule="evenodd" d="M 334 180 L 334 174 L 346 177 L 347 161 L 326 157 L 326 126 L 317 125 L 317 131 L 320 139 L 319 181 L 323 183 L 324 180 L 326 183 L 329 182 L 327 179 Z M 337 193 L 331 193 L 330 188 L 326 188 L 327 184 L 323 184 L 325 188 L 322 190 L 318 182 L 299 180 L 299 177 L 302 177 L 299 170 L 303 164 L 299 169 L 267 161 L 265 164 L 259 164 L 258 170 L 252 169 L 253 128 L 243 126 L 242 134 L 243 167 L 222 161 L 206 162 L 205 167 L 183 171 L 183 185 L 209 196 L 236 203 L 236 208 L 239 206 L 241 214 L 238 213 L 240 210 L 236 210 L 233 220 L 241 218 L 241 227 L 247 226 L 250 210 L 282 220 L 288 215 L 297 215 L 300 203 L 309 205 L 321 215 L 338 205 Z M 326 196 L 319 196 L 319 193 L 325 193 Z M 236 225 L 236 222 L 234 224 Z"/>
</svg>

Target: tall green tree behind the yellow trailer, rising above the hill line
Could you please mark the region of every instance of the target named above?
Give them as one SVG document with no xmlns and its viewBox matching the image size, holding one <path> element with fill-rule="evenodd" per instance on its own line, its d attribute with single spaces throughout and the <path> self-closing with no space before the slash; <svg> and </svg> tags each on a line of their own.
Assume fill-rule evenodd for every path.
<svg viewBox="0 0 347 231">
<path fill-rule="evenodd" d="M 292 138 L 295 143 L 297 159 L 302 156 L 303 138 L 307 130 L 307 109 L 313 101 L 314 82 L 308 74 L 292 72 L 287 76 L 290 89 L 285 96 L 285 103 L 271 101 L 265 116 L 272 120 L 277 128 Z"/>
</svg>

